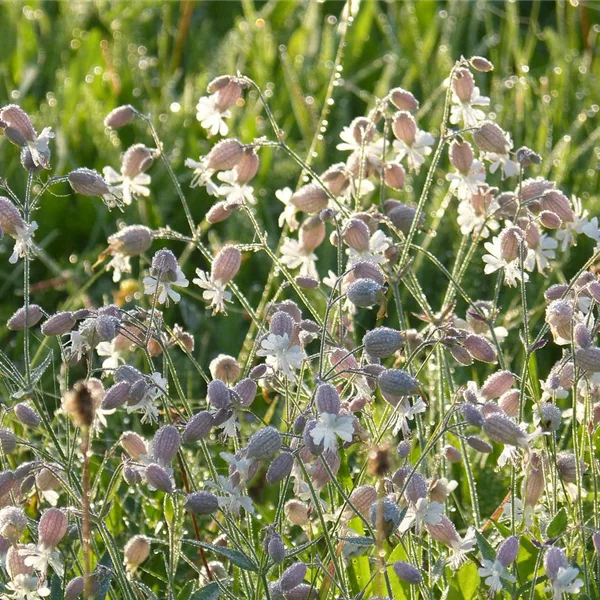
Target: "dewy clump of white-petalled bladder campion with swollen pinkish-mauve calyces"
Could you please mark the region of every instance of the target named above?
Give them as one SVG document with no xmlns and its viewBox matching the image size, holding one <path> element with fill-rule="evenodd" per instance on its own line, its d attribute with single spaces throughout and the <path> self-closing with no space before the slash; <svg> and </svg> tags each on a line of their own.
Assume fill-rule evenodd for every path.
<svg viewBox="0 0 600 600">
<path fill-rule="evenodd" d="M 23 197 L 3 180 L 0 198 L 23 272 L 7 323 L 23 356 L 0 352 L 2 597 L 442 598 L 457 581 L 469 597 L 600 593 L 597 218 L 494 121 L 479 87 L 492 68 L 457 60 L 429 131 L 411 91 L 386 90 L 322 168 L 243 73 L 199 98 L 195 134 L 216 141 L 181 173 L 134 106 L 106 118 L 139 141 L 102 175 L 47 175 L 51 129 L 0 110 L 27 179 Z M 242 142 L 250 94 L 271 131 Z M 259 189 L 266 155 L 291 157 L 298 185 Z M 136 220 L 159 170 L 186 231 Z M 67 185 L 123 211 L 95 268 L 134 293 L 32 303 L 33 219 Z M 200 194 L 213 201 L 201 221 Z M 229 219 L 250 229 L 225 243 Z M 449 261 L 445 228 L 461 235 Z M 554 283 L 581 236 L 592 254 Z M 258 305 L 236 281 L 254 256 L 270 269 Z M 238 356 L 211 347 L 206 368 L 202 331 L 173 316 L 184 299 L 217 327 L 243 311 Z"/>
</svg>

